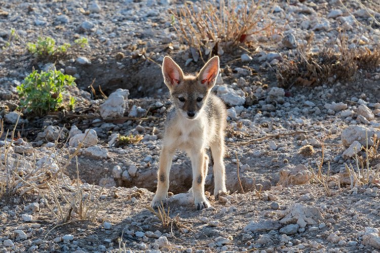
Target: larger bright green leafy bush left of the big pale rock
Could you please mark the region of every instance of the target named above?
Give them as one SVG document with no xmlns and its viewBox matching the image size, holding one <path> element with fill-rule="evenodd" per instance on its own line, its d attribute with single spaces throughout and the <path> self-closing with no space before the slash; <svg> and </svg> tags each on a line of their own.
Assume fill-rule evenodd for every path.
<svg viewBox="0 0 380 253">
<path fill-rule="evenodd" d="M 20 105 L 28 112 L 41 116 L 56 111 L 62 103 L 65 87 L 75 85 L 74 80 L 75 77 L 65 75 L 58 70 L 41 71 L 41 73 L 34 70 L 17 87 L 17 92 L 22 98 Z"/>
</svg>

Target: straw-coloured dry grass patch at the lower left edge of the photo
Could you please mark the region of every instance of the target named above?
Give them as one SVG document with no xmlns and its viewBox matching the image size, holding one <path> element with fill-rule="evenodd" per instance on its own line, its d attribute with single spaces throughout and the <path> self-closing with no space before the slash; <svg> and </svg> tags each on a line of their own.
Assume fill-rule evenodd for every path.
<svg viewBox="0 0 380 253">
<path fill-rule="evenodd" d="M 71 154 L 65 148 L 65 143 L 59 151 L 55 146 L 50 155 L 38 162 L 34 153 L 33 162 L 29 164 L 25 156 L 15 159 L 10 155 L 17 123 L 18 120 L 11 132 L 10 141 L 5 138 L 4 146 L 0 148 L 0 198 L 37 193 L 42 196 L 45 205 L 57 219 L 57 226 L 71 221 L 96 221 L 100 210 L 112 200 L 112 194 L 111 191 L 104 194 L 103 188 L 99 190 L 94 185 L 88 187 L 82 185 L 77 155 L 83 143 L 79 143 Z M 0 138 L 3 133 L 4 125 L 0 121 Z M 5 137 L 8 137 L 8 134 L 9 132 Z M 67 158 L 60 162 L 59 158 L 65 156 Z M 74 158 L 77 161 L 77 179 L 71 181 L 64 175 L 64 171 Z"/>
</svg>

